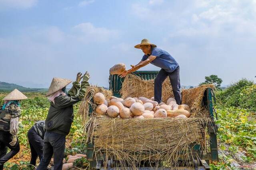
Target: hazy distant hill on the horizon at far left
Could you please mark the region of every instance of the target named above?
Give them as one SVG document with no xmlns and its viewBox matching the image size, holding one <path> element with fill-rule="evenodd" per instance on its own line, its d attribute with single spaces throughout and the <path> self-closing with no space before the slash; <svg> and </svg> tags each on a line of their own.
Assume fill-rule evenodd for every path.
<svg viewBox="0 0 256 170">
<path fill-rule="evenodd" d="M 14 83 L 0 82 L 0 92 L 9 92 L 18 89 L 21 92 L 44 92 L 46 88 L 27 88 Z"/>
</svg>

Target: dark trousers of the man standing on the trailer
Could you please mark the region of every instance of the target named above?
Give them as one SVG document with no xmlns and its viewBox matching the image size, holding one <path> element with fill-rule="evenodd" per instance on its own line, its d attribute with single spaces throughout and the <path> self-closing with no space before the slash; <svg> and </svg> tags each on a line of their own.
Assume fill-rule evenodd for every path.
<svg viewBox="0 0 256 170">
<path fill-rule="evenodd" d="M 181 93 L 180 93 L 180 66 L 176 68 L 173 72 L 166 72 L 164 69 L 161 69 L 155 80 L 154 80 L 154 98 L 155 101 L 160 103 L 162 102 L 162 83 L 169 76 L 170 82 L 172 85 L 172 92 L 174 98 L 178 105 L 181 104 Z"/>
</svg>

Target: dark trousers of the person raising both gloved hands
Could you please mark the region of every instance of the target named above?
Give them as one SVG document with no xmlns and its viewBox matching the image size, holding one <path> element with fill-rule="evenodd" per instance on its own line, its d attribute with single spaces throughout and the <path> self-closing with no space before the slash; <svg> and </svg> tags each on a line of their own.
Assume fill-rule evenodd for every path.
<svg viewBox="0 0 256 170">
<path fill-rule="evenodd" d="M 36 170 L 46 170 L 52 155 L 54 155 L 54 170 L 61 170 L 65 143 L 65 135 L 46 131 L 44 134 L 44 156 Z"/>
</svg>

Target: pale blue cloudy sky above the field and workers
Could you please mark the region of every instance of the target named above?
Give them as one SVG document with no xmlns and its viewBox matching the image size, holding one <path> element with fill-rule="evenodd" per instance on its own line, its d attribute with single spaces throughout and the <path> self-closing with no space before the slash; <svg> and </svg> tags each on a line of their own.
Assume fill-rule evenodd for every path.
<svg viewBox="0 0 256 170">
<path fill-rule="evenodd" d="M 256 76 L 256 0 L 0 0 L 0 21 L 0 81 L 27 87 L 86 70 L 108 86 L 111 66 L 140 61 L 143 38 L 178 61 L 182 85 Z"/>
</svg>

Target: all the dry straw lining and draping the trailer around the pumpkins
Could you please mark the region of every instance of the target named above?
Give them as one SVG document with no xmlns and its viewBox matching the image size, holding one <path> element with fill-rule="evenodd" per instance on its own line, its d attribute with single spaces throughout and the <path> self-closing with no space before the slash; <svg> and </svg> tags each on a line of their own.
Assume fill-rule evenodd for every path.
<svg viewBox="0 0 256 170">
<path fill-rule="evenodd" d="M 158 166 L 167 162 L 170 167 L 191 166 L 189 164 L 191 146 L 199 144 L 203 152 L 208 150 L 206 123 L 209 120 L 202 99 L 206 88 L 204 85 L 194 89 L 182 90 L 182 103 L 192 108 L 192 116 L 188 119 L 154 118 L 154 119 L 120 119 L 93 114 L 87 119 L 89 104 L 96 92 L 102 92 L 107 99 L 112 95 L 109 90 L 93 86 L 88 89 L 80 106 L 80 114 L 86 121 L 87 141 L 94 141 L 95 155 L 106 155 L 106 159 L 114 156 L 119 160 L 120 168 L 129 166 L 137 169 L 141 160 L 149 160 L 150 166 Z M 172 97 L 169 80 L 163 83 L 163 101 Z M 125 78 L 121 90 L 122 98 L 154 96 L 154 81 L 142 80 L 138 76 L 129 75 Z M 94 112 L 94 111 L 93 111 Z M 181 151 L 183 164 L 180 165 Z M 144 156 L 147 155 L 147 156 Z M 95 157 L 96 158 L 96 157 Z M 156 163 L 156 164 L 153 164 Z"/>
</svg>

